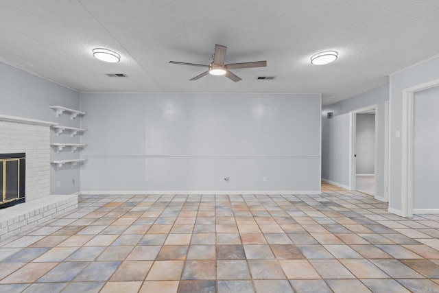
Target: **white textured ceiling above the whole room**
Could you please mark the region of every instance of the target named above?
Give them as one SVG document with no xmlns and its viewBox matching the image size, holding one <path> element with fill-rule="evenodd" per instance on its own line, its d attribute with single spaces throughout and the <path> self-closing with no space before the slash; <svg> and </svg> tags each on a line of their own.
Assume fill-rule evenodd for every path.
<svg viewBox="0 0 439 293">
<path fill-rule="evenodd" d="M 215 44 L 241 82 L 207 75 Z M 95 47 L 121 54 L 109 64 Z M 330 65 L 311 65 L 336 50 Z M 439 54 L 438 0 L 1 0 L 0 61 L 84 92 L 322 93 L 323 104 L 388 83 Z M 125 73 L 110 78 L 106 73 Z M 257 80 L 258 76 L 274 80 Z"/>
</svg>

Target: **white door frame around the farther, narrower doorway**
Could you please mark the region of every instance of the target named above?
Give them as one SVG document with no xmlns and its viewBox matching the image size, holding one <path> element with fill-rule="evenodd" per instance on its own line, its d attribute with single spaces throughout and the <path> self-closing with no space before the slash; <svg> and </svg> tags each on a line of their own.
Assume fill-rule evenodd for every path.
<svg viewBox="0 0 439 293">
<path fill-rule="evenodd" d="M 378 104 L 372 104 L 370 106 L 364 106 L 351 110 L 349 112 L 349 190 L 356 190 L 356 161 L 355 161 L 355 150 L 356 150 L 356 140 L 357 140 L 357 114 L 365 113 L 370 110 L 375 110 L 375 186 L 374 186 L 374 197 L 377 194 L 377 118 L 378 118 Z"/>
</svg>

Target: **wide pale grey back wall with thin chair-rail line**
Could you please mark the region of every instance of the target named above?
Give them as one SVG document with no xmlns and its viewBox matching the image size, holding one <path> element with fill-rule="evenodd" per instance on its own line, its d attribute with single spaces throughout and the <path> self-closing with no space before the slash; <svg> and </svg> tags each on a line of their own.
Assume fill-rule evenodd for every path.
<svg viewBox="0 0 439 293">
<path fill-rule="evenodd" d="M 82 191 L 320 191 L 318 94 L 82 93 L 81 105 Z"/>
</svg>

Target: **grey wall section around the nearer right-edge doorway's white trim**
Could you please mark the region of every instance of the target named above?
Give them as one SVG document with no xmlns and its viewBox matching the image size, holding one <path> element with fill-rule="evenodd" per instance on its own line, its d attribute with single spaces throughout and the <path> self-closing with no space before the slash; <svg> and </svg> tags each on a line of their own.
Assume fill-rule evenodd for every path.
<svg viewBox="0 0 439 293">
<path fill-rule="evenodd" d="M 439 79 L 439 57 L 390 75 L 390 189 L 389 208 L 401 211 L 402 93 L 410 86 Z"/>
</svg>

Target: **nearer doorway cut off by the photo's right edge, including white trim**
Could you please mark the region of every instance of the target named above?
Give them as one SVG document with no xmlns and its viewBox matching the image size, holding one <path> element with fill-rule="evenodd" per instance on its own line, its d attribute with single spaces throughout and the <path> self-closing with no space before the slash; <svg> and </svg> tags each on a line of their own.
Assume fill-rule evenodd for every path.
<svg viewBox="0 0 439 293">
<path fill-rule="evenodd" d="M 403 90 L 401 128 L 401 215 L 439 213 L 436 179 L 439 80 Z M 416 99 L 415 99 L 416 96 Z M 427 185 L 425 184 L 427 183 Z"/>
</svg>

